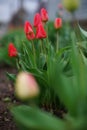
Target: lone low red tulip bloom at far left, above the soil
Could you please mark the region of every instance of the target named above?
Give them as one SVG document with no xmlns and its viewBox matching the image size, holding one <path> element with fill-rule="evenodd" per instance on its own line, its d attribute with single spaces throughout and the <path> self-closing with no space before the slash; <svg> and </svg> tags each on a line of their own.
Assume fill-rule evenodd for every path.
<svg viewBox="0 0 87 130">
<path fill-rule="evenodd" d="M 8 55 L 10 57 L 16 57 L 18 54 L 17 49 L 15 48 L 13 43 L 10 43 L 8 46 Z"/>
</svg>

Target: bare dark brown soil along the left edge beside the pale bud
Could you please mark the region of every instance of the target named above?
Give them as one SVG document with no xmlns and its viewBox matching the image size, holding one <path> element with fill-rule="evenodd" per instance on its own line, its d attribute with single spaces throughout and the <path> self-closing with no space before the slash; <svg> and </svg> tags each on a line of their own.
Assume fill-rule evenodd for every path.
<svg viewBox="0 0 87 130">
<path fill-rule="evenodd" d="M 0 130 L 17 130 L 10 114 L 10 107 L 17 103 L 14 98 L 13 84 L 7 79 L 6 72 L 16 73 L 10 67 L 0 67 Z"/>
</svg>

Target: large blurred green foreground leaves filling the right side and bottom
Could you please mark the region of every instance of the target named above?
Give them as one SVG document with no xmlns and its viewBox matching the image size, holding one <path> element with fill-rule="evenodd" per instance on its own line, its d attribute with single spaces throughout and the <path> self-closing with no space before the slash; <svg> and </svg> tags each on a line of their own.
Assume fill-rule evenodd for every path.
<svg viewBox="0 0 87 130">
<path fill-rule="evenodd" d="M 84 54 L 76 45 L 72 34 L 70 65 L 72 75 L 63 72 L 64 62 L 52 62 L 51 86 L 55 94 L 67 108 L 63 119 L 41 111 L 35 106 L 17 106 L 11 109 L 14 119 L 22 130 L 86 130 L 87 129 L 87 64 Z M 52 85 L 53 84 L 53 85 Z"/>
</svg>

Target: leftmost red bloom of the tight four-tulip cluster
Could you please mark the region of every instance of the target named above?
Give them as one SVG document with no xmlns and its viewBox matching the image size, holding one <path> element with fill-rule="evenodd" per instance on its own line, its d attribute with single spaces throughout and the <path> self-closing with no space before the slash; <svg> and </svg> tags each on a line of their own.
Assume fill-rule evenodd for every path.
<svg viewBox="0 0 87 130">
<path fill-rule="evenodd" d="M 35 38 L 32 25 L 28 21 L 25 22 L 24 31 L 28 40 Z"/>
</svg>

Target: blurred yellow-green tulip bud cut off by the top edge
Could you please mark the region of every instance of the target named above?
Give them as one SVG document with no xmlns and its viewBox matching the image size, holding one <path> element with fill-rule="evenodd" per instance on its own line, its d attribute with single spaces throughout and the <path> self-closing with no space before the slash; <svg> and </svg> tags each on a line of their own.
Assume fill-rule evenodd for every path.
<svg viewBox="0 0 87 130">
<path fill-rule="evenodd" d="M 80 0 L 62 0 L 64 7 L 70 11 L 74 12 L 80 5 Z"/>
</svg>

